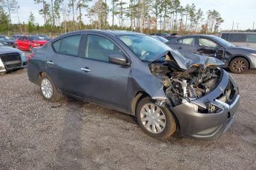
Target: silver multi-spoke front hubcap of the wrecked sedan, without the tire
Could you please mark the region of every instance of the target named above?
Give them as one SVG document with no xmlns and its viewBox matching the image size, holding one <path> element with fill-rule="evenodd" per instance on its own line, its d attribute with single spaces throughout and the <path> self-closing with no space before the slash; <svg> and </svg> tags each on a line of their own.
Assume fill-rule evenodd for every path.
<svg viewBox="0 0 256 170">
<path fill-rule="evenodd" d="M 165 129 L 165 114 L 160 106 L 154 103 L 146 103 L 142 106 L 140 118 L 145 129 L 151 133 L 158 134 Z"/>
</svg>

